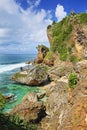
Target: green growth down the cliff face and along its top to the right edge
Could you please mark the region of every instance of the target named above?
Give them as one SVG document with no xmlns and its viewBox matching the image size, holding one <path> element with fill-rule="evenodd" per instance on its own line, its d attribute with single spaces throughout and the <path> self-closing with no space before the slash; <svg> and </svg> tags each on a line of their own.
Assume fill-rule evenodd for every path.
<svg viewBox="0 0 87 130">
<path fill-rule="evenodd" d="M 87 24 L 87 13 L 81 14 L 70 14 L 68 17 L 65 17 L 62 21 L 49 25 L 48 31 L 52 37 L 52 43 L 50 47 L 51 53 L 58 52 L 60 55 L 60 59 L 66 61 L 69 59 L 72 61 L 78 61 L 77 57 L 72 56 L 72 45 L 68 47 L 69 40 L 72 37 L 72 31 L 74 29 L 74 25 L 79 24 Z"/>
</svg>

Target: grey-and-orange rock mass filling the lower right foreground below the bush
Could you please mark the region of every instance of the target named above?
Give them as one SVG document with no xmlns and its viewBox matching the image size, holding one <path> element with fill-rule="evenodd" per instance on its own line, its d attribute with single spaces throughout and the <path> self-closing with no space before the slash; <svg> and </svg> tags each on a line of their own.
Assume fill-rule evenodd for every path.
<svg viewBox="0 0 87 130">
<path fill-rule="evenodd" d="M 51 86 L 47 93 L 46 113 L 39 130 L 86 130 L 87 78 L 73 90 L 64 82 Z"/>
</svg>

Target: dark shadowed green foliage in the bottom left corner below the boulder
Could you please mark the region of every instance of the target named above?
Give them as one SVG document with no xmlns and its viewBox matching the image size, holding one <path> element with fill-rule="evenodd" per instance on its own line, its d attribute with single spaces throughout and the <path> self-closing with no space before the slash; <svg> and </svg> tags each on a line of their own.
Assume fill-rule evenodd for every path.
<svg viewBox="0 0 87 130">
<path fill-rule="evenodd" d="M 0 130 L 37 130 L 37 125 L 24 122 L 18 116 L 0 113 Z"/>
</svg>

